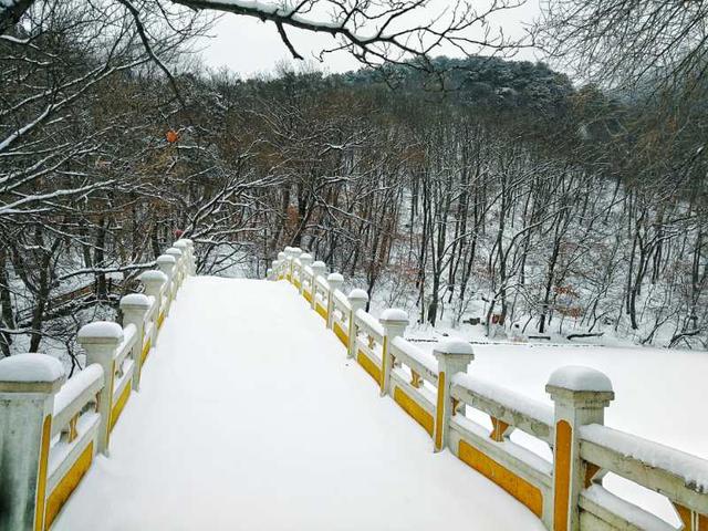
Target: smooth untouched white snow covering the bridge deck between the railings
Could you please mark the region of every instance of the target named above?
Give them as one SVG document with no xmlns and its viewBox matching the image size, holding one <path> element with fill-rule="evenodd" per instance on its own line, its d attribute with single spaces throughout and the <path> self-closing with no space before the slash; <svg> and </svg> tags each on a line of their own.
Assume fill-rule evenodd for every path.
<svg viewBox="0 0 708 531">
<path fill-rule="evenodd" d="M 448 451 L 434 454 L 291 287 L 201 277 L 180 291 L 111 457 L 52 529 L 442 525 L 543 529 Z"/>
</svg>

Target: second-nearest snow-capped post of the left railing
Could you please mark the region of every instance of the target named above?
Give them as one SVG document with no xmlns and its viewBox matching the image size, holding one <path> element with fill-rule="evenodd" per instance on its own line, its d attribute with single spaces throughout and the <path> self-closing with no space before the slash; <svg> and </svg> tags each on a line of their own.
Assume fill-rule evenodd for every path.
<svg viewBox="0 0 708 531">
<path fill-rule="evenodd" d="M 123 341 L 123 329 L 117 323 L 97 321 L 81 327 L 76 337 L 86 352 L 86 366 L 97 363 L 103 367 L 104 385 L 98 393 L 98 448 L 108 455 L 111 438 L 111 413 L 113 409 L 113 384 L 115 381 L 115 351 Z"/>
</svg>

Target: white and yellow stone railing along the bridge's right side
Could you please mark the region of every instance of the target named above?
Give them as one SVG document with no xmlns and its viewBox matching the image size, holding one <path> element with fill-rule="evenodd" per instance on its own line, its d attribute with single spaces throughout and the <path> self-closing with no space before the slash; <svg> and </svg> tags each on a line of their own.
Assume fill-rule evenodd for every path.
<svg viewBox="0 0 708 531">
<path fill-rule="evenodd" d="M 587 367 L 562 367 L 545 386 L 553 407 L 467 374 L 472 347 L 438 343 L 433 355 L 403 335 L 408 317 L 364 311 L 367 294 L 341 288 L 339 273 L 296 248 L 279 253 L 268 272 L 291 282 L 374 378 L 431 437 L 436 451 L 460 460 L 525 504 L 553 531 L 675 528 L 603 487 L 614 472 L 665 496 L 686 531 L 708 531 L 708 461 L 603 426 L 614 399 L 610 379 Z M 466 410 L 487 414 L 492 429 Z M 696 421 L 700 421 L 697 419 Z M 552 462 L 510 439 L 518 429 L 546 442 Z"/>
</svg>

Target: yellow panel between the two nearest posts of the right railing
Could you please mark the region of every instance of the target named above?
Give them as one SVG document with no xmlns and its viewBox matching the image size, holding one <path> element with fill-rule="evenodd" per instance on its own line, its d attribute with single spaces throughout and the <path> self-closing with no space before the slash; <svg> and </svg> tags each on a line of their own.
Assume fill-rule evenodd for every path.
<svg viewBox="0 0 708 531">
<path fill-rule="evenodd" d="M 460 440 L 458 447 L 460 460 L 472 467 L 482 476 L 491 479 L 499 487 L 527 506 L 539 518 L 543 514 L 543 494 L 523 478 L 502 467 L 486 454 L 479 451 L 472 445 Z"/>
</svg>

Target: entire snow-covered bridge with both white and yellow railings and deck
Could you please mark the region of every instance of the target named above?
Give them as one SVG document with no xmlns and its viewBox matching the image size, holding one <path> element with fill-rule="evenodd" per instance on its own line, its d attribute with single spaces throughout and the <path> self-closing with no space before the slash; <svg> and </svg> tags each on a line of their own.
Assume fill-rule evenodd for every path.
<svg viewBox="0 0 708 531">
<path fill-rule="evenodd" d="M 0 530 L 677 529 L 607 472 L 708 529 L 708 462 L 603 426 L 597 371 L 534 402 L 467 374 L 468 343 L 415 347 L 404 312 L 376 320 L 296 249 L 279 282 L 194 277 L 188 240 L 158 266 L 123 326 L 82 329 L 71 379 L 0 362 Z"/>
</svg>

